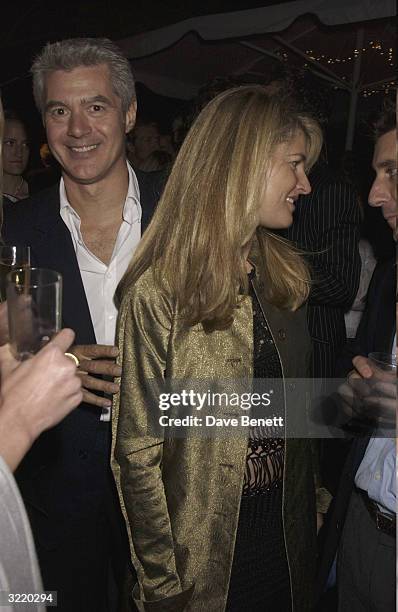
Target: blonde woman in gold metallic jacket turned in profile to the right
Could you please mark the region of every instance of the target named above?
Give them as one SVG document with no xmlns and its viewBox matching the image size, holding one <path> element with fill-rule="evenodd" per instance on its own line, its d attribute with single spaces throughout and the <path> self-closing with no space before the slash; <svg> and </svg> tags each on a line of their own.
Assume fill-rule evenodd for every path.
<svg viewBox="0 0 398 612">
<path fill-rule="evenodd" d="M 313 120 L 260 86 L 212 100 L 119 287 L 112 463 L 140 610 L 310 610 L 309 440 L 261 427 L 173 437 L 152 426 L 150 397 L 162 380 L 247 391 L 254 379 L 307 375 L 309 271 L 272 230 L 310 191 L 321 141 Z"/>
</svg>

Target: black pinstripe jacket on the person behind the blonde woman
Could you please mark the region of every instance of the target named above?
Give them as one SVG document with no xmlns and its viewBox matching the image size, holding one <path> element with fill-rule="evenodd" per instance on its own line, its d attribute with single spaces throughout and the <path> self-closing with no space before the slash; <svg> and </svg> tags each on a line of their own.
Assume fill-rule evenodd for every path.
<svg viewBox="0 0 398 612">
<path fill-rule="evenodd" d="M 308 327 L 313 340 L 312 376 L 331 377 L 346 341 L 344 312 L 358 291 L 360 210 L 352 185 L 323 165 L 310 175 L 312 192 L 297 202 L 286 236 L 308 255 L 313 286 Z"/>
</svg>

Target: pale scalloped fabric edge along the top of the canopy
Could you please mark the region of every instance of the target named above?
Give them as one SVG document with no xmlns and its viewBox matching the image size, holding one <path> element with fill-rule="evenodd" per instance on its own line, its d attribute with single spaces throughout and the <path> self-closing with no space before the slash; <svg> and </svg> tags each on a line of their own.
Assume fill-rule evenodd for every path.
<svg viewBox="0 0 398 612">
<path fill-rule="evenodd" d="M 338 25 L 395 16 L 394 0 L 298 0 L 268 7 L 205 15 L 118 41 L 130 59 L 157 53 L 188 32 L 204 40 L 221 40 L 279 32 L 300 15 L 311 13 L 325 25 Z"/>
</svg>

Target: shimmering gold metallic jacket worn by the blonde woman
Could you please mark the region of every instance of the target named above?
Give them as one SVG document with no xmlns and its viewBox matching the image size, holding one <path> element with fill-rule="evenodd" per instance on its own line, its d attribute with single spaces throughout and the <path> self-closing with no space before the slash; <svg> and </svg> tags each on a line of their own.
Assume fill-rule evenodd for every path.
<svg viewBox="0 0 398 612">
<path fill-rule="evenodd" d="M 294 411 L 297 398 L 287 379 L 307 376 L 305 308 L 295 313 L 278 310 L 265 301 L 257 277 L 254 287 L 279 352 L 285 401 Z M 188 432 L 184 439 L 155 437 L 147 429 L 146 391 L 148 380 L 164 376 L 247 381 L 253 371 L 251 298 L 242 297 L 232 326 L 224 331 L 184 327 L 177 314 L 166 293 L 155 286 L 151 269 L 122 302 L 118 334 L 123 375 L 113 404 L 112 469 L 138 576 L 133 590 L 138 609 L 223 612 L 247 436 L 210 439 Z M 283 524 L 293 610 L 309 611 L 316 521 L 307 439 L 286 440 Z"/>
</svg>

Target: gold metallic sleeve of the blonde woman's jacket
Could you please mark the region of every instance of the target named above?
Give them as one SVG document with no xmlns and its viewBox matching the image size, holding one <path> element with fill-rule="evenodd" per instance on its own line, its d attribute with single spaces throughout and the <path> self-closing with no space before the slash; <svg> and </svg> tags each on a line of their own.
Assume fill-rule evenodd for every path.
<svg viewBox="0 0 398 612">
<path fill-rule="evenodd" d="M 138 281 L 119 314 L 120 392 L 113 405 L 112 470 L 126 520 L 140 610 L 183 610 L 192 589 L 177 573 L 172 526 L 162 480 L 163 438 L 156 383 L 164 377 L 172 325 L 170 303 Z M 189 585 L 191 586 L 191 585 Z"/>
</svg>

